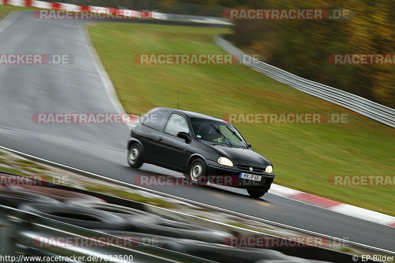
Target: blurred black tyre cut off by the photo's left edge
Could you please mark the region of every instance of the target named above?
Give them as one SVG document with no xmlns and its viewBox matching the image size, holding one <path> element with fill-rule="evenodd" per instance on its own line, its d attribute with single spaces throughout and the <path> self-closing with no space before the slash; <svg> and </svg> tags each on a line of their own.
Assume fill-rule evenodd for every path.
<svg viewBox="0 0 395 263">
<path fill-rule="evenodd" d="M 6 205 L 13 208 L 17 208 L 20 204 L 26 202 L 47 203 L 47 204 L 60 203 L 60 201 L 56 199 L 47 196 L 42 196 L 40 194 L 15 191 L 5 187 L 0 188 L 0 205 Z"/>
</svg>

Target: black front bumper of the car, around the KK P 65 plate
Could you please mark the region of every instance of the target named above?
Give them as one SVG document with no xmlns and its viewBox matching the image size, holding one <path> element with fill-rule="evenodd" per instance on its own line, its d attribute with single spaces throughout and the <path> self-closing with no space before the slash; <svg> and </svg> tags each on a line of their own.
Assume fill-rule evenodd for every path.
<svg viewBox="0 0 395 263">
<path fill-rule="evenodd" d="M 225 182 L 225 186 L 237 187 L 237 188 L 248 188 L 248 187 L 260 187 L 269 190 L 275 179 L 275 174 L 268 174 L 265 171 L 255 172 L 255 171 L 245 171 L 239 169 L 237 166 L 227 167 L 220 165 L 212 160 L 205 160 L 207 166 L 207 175 L 213 177 L 212 182 Z M 240 173 L 248 173 L 254 175 L 260 175 L 261 180 L 248 180 L 240 178 Z M 225 181 L 216 180 L 218 177 L 224 177 Z M 218 183 L 221 185 L 221 183 Z"/>
</svg>

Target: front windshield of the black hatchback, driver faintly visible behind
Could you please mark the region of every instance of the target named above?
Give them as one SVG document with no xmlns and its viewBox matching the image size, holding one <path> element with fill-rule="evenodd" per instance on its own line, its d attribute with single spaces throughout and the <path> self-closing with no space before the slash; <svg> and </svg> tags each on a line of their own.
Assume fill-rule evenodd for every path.
<svg viewBox="0 0 395 263">
<path fill-rule="evenodd" d="M 247 147 L 240 133 L 230 123 L 199 118 L 191 118 L 191 123 L 197 139 L 229 146 Z"/>
</svg>

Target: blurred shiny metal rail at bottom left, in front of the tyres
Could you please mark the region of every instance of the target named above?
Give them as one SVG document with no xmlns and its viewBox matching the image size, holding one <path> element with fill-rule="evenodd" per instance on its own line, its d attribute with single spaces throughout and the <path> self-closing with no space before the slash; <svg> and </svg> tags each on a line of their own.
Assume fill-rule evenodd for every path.
<svg viewBox="0 0 395 263">
<path fill-rule="evenodd" d="M 2 262 L 32 263 L 30 257 L 83 257 L 82 262 L 182 262 L 182 263 L 206 263 L 211 262 L 183 253 L 162 249 L 156 246 L 145 245 L 143 247 L 119 247 L 112 244 L 96 247 L 75 246 L 35 246 L 37 237 L 68 236 L 80 238 L 89 243 L 90 237 L 105 237 L 108 234 L 70 225 L 67 223 L 47 219 L 39 215 L 24 212 L 15 208 L 0 205 L 0 255 L 8 258 Z M 104 241 L 103 241 L 104 242 Z M 26 255 L 21 256 L 21 255 Z M 30 258 L 27 262 L 26 259 Z M 96 257 L 96 259 L 93 259 Z M 35 261 L 36 262 L 36 261 Z M 46 261 L 45 261 L 46 262 Z M 76 261 L 62 261 L 76 262 Z M 79 261 L 78 261 L 79 262 Z"/>
</svg>

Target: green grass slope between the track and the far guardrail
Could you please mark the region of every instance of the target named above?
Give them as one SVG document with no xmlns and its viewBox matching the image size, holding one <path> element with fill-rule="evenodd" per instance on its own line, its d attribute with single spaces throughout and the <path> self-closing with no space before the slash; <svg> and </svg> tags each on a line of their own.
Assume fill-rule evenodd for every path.
<svg viewBox="0 0 395 263">
<path fill-rule="evenodd" d="M 212 42 L 227 29 L 107 23 L 89 28 L 127 113 L 176 107 L 225 113 L 348 113 L 347 124 L 238 124 L 252 148 L 271 160 L 275 183 L 395 215 L 395 186 L 339 187 L 331 175 L 395 175 L 395 132 L 241 65 L 143 66 L 147 53 L 224 53 Z"/>
</svg>

